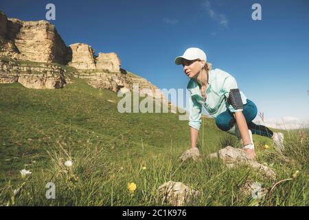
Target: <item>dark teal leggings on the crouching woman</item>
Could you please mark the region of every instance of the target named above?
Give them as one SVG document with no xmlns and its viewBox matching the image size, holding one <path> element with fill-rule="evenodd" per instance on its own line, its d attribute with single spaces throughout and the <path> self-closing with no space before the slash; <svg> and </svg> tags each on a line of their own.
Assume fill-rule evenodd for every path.
<svg viewBox="0 0 309 220">
<path fill-rule="evenodd" d="M 266 137 L 272 137 L 273 131 L 268 129 L 266 126 L 261 124 L 255 124 L 252 120 L 258 114 L 258 109 L 255 104 L 247 99 L 247 104 L 244 104 L 244 109 L 242 110 L 242 114 L 246 119 L 248 129 L 251 130 L 253 134 L 262 135 Z M 227 111 L 220 113 L 220 115 L 216 118 L 216 125 L 222 131 L 229 131 L 231 127 L 236 123 L 236 120 L 233 117 L 233 113 L 227 109 Z"/>
</svg>

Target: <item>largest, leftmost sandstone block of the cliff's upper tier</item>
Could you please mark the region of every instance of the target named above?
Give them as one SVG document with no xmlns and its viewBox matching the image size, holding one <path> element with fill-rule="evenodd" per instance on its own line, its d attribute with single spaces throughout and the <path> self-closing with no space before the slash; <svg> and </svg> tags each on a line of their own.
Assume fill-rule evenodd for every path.
<svg viewBox="0 0 309 220">
<path fill-rule="evenodd" d="M 0 56 L 65 64 L 67 46 L 52 23 L 7 19 L 3 13 L 0 21 Z"/>
</svg>

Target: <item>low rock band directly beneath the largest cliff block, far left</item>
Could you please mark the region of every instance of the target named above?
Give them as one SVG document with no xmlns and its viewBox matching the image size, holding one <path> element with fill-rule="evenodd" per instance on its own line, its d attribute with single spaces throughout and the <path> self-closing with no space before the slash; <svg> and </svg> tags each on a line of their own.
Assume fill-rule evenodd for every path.
<svg viewBox="0 0 309 220">
<path fill-rule="evenodd" d="M 16 65 L 0 63 L 0 83 L 21 83 L 32 89 L 59 89 L 65 86 L 65 70 L 52 64 Z"/>
</svg>

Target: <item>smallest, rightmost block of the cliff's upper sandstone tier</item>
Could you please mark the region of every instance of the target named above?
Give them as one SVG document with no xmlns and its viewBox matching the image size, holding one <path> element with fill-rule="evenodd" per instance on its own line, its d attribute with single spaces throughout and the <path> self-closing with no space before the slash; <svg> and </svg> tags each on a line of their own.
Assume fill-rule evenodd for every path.
<svg viewBox="0 0 309 220">
<path fill-rule="evenodd" d="M 111 72 L 119 72 L 121 61 L 115 53 L 99 53 L 96 58 L 96 69 L 108 69 Z"/>
</svg>

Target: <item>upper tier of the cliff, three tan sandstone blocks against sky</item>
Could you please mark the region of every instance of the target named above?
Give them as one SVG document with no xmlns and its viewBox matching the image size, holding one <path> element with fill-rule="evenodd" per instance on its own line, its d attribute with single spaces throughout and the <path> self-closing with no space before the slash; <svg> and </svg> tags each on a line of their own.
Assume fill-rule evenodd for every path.
<svg viewBox="0 0 309 220">
<path fill-rule="evenodd" d="M 95 56 L 91 46 L 85 43 L 67 47 L 55 26 L 48 21 L 10 19 L 3 12 L 0 12 L 0 56 L 111 72 L 119 72 L 121 65 L 113 52 Z"/>
</svg>

